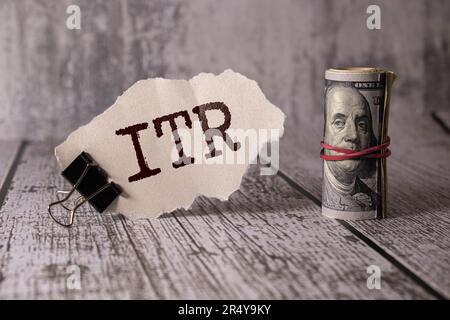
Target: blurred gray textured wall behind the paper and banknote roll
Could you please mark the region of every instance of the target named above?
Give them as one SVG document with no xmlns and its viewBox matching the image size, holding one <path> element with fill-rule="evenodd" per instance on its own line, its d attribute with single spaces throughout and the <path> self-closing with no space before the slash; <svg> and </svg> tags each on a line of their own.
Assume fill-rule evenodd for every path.
<svg viewBox="0 0 450 320">
<path fill-rule="evenodd" d="M 69 4 L 81 30 L 66 28 Z M 366 28 L 369 4 L 381 30 Z M 320 125 L 332 66 L 394 70 L 392 112 L 448 108 L 449 16 L 447 0 L 0 0 L 0 135 L 63 139 L 139 79 L 226 68 L 299 126 Z"/>
</svg>

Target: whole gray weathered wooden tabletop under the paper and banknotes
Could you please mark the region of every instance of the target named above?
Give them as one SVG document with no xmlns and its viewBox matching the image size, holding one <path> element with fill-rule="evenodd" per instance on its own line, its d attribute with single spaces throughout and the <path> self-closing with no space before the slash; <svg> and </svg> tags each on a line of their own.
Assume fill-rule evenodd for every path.
<svg viewBox="0 0 450 320">
<path fill-rule="evenodd" d="M 0 298 L 448 299 L 448 128 L 391 123 L 388 218 L 359 222 L 321 216 L 322 132 L 307 124 L 287 123 L 277 175 L 250 167 L 227 202 L 137 221 L 85 206 L 70 229 L 46 212 L 64 185 L 56 143 L 0 142 Z"/>
</svg>

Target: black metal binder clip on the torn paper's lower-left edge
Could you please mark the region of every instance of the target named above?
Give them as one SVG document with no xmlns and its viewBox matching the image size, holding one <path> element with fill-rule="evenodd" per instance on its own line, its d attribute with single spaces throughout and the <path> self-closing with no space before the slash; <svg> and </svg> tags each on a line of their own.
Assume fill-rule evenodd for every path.
<svg viewBox="0 0 450 320">
<path fill-rule="evenodd" d="M 85 202 L 89 202 L 99 213 L 114 201 L 121 193 L 121 188 L 114 182 L 108 182 L 106 173 L 94 162 L 86 152 L 82 152 L 72 163 L 62 172 L 64 178 L 70 182 L 73 188 L 69 191 L 58 190 L 57 194 L 65 194 L 65 197 L 48 205 L 48 214 L 59 225 L 70 227 L 73 224 L 75 212 Z M 81 196 L 75 200 L 72 209 L 65 205 L 74 191 L 78 191 Z M 59 205 L 69 212 L 69 222 L 58 221 L 52 214 L 52 207 Z"/>
</svg>

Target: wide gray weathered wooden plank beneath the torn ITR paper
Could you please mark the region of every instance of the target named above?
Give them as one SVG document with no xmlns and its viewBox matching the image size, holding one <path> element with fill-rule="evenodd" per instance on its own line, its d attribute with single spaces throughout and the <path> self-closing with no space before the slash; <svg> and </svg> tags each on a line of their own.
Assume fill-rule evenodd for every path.
<svg viewBox="0 0 450 320">
<path fill-rule="evenodd" d="M 63 185 L 48 144 L 25 149 L 0 211 L 1 298 L 431 298 L 279 177 L 255 169 L 230 201 L 131 221 L 46 205 Z M 81 269 L 69 290 L 67 266 Z M 382 289 L 366 286 L 369 265 Z"/>
</svg>

